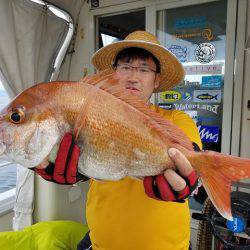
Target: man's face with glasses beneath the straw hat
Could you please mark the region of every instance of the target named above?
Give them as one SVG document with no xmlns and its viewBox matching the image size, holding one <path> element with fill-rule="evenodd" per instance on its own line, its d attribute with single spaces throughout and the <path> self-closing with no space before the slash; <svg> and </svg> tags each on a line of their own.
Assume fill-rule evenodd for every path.
<svg viewBox="0 0 250 250">
<path fill-rule="evenodd" d="M 155 88 L 159 86 L 159 74 L 152 58 L 131 59 L 129 62 L 118 60 L 115 76 L 125 88 L 148 102 Z"/>
</svg>

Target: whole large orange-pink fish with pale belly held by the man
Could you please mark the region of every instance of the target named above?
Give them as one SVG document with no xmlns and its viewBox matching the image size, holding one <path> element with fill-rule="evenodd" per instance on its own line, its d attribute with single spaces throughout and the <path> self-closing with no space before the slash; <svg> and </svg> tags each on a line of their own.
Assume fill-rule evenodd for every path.
<svg viewBox="0 0 250 250">
<path fill-rule="evenodd" d="M 119 79 L 102 74 L 38 84 L 18 95 L 0 112 L 0 157 L 27 168 L 46 167 L 66 132 L 74 132 L 81 149 L 79 172 L 97 179 L 160 174 L 175 168 L 168 148 L 179 149 L 227 219 L 231 183 L 250 177 L 249 159 L 194 152 L 176 125 L 126 93 Z"/>
</svg>

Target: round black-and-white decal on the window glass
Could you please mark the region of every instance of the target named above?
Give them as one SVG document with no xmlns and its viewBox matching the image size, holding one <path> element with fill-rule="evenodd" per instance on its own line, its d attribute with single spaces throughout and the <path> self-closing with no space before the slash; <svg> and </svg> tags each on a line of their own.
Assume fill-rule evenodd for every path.
<svg viewBox="0 0 250 250">
<path fill-rule="evenodd" d="M 211 43 L 201 43 L 194 51 L 195 58 L 200 63 L 209 63 L 215 58 L 215 47 Z"/>
</svg>

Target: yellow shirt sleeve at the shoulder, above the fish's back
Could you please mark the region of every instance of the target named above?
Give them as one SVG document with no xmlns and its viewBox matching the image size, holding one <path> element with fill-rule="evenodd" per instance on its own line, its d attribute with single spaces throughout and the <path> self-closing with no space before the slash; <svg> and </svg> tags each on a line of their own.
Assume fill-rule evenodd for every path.
<svg viewBox="0 0 250 250">
<path fill-rule="evenodd" d="M 202 149 L 202 142 L 198 128 L 188 114 L 184 113 L 183 111 L 174 110 L 173 123 L 182 129 L 188 138 L 192 142 L 196 143 L 200 149 Z"/>
</svg>

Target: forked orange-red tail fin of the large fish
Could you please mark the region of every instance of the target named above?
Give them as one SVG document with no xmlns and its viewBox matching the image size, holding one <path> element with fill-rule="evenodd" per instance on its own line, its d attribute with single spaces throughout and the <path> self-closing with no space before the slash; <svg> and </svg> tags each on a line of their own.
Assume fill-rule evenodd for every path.
<svg viewBox="0 0 250 250">
<path fill-rule="evenodd" d="M 193 153 L 188 158 L 218 212 L 231 220 L 231 184 L 250 178 L 250 159 L 212 151 Z"/>
</svg>

